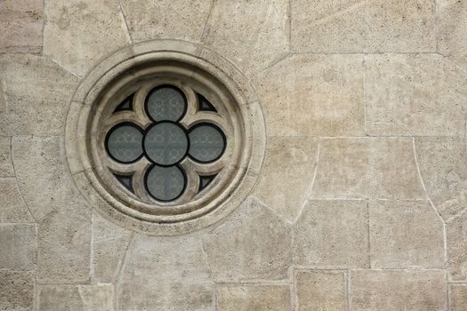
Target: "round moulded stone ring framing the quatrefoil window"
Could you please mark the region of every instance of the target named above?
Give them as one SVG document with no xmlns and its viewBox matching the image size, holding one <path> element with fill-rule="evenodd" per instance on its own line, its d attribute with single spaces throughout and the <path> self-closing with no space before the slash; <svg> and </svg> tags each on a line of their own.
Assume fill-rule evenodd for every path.
<svg viewBox="0 0 467 311">
<path fill-rule="evenodd" d="M 102 163 L 100 120 L 118 90 L 155 77 L 197 84 L 221 100 L 232 126 L 231 154 L 205 194 L 173 204 L 138 200 L 113 182 Z M 173 40 L 133 44 L 102 60 L 71 100 L 65 128 L 68 166 L 93 208 L 122 227 L 149 235 L 181 235 L 208 227 L 238 207 L 262 168 L 265 129 L 261 103 L 243 74 L 204 46 Z"/>
</svg>

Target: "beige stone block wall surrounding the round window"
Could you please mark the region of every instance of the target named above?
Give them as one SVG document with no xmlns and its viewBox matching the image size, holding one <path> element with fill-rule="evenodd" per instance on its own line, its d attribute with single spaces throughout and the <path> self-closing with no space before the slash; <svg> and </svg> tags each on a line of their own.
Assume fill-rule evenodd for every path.
<svg viewBox="0 0 467 311">
<path fill-rule="evenodd" d="M 130 44 L 239 68 L 252 194 L 157 237 L 76 188 L 69 100 Z M 467 310 L 466 0 L 0 0 L 0 310 Z"/>
</svg>

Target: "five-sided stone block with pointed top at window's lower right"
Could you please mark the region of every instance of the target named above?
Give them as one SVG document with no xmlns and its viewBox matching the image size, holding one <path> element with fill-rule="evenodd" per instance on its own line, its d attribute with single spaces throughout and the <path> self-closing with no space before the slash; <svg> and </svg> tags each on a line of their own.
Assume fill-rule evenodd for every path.
<svg viewBox="0 0 467 311">
<path fill-rule="evenodd" d="M 248 198 L 221 225 L 203 235 L 216 281 L 285 279 L 292 264 L 291 228 Z"/>
</svg>

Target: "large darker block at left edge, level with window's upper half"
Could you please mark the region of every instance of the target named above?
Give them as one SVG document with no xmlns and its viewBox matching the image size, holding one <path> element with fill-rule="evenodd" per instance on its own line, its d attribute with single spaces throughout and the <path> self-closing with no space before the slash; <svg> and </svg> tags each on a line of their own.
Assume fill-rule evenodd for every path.
<svg viewBox="0 0 467 311">
<path fill-rule="evenodd" d="M 51 60 L 13 54 L 0 58 L 6 103 L 0 107 L 0 135 L 61 135 L 75 76 Z"/>
</svg>

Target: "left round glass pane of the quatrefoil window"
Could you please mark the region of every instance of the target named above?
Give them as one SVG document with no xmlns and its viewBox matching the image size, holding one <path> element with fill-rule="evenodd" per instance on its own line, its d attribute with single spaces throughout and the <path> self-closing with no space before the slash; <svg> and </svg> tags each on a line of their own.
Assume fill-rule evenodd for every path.
<svg viewBox="0 0 467 311">
<path fill-rule="evenodd" d="M 109 155 L 123 163 L 136 161 L 142 155 L 142 133 L 133 125 L 113 127 L 106 140 Z"/>
</svg>

